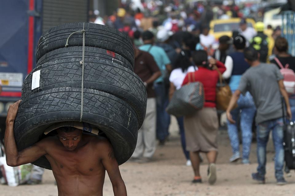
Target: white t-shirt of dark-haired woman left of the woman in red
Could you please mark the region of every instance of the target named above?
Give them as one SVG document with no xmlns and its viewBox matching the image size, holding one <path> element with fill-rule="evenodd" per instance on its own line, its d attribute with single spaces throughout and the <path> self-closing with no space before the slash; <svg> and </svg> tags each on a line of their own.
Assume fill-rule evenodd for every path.
<svg viewBox="0 0 295 196">
<path fill-rule="evenodd" d="M 198 70 L 198 67 L 195 66 L 189 66 L 186 72 L 182 72 L 181 68 L 177 68 L 175 70 L 172 70 L 169 81 L 173 83 L 175 86 L 176 90 L 181 88 L 181 85 L 183 83 L 183 80 L 185 76 L 187 75 L 188 72 L 195 72 L 195 70 Z"/>
</svg>

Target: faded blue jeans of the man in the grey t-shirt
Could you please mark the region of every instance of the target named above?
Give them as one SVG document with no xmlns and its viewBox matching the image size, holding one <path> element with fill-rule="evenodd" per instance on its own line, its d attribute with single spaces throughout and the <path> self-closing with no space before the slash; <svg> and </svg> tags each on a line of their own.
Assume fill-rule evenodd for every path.
<svg viewBox="0 0 295 196">
<path fill-rule="evenodd" d="M 265 175 L 266 166 L 266 145 L 269 138 L 269 132 L 273 132 L 273 144 L 275 149 L 275 176 L 277 179 L 283 177 L 284 166 L 284 146 L 283 146 L 283 118 L 268 120 L 259 123 L 257 126 L 257 171 L 260 175 Z"/>
</svg>

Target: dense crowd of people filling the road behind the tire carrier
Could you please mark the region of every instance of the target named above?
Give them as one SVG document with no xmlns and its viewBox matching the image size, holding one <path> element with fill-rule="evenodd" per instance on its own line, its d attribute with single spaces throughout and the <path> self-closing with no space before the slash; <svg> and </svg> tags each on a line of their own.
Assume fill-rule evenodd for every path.
<svg viewBox="0 0 295 196">
<path fill-rule="evenodd" d="M 280 64 L 289 64 L 294 71 L 295 67 L 294 57 L 288 54 L 288 42 L 281 37 L 280 27 L 273 29 L 270 24 L 260 21 L 255 28 L 250 27 L 246 17 L 259 20 L 261 10 L 254 16 L 252 11 L 246 11 L 247 8 L 240 9 L 235 5 L 197 3 L 186 7 L 181 1 L 175 1 L 165 7 L 160 1 L 155 1 L 137 8 L 129 6 L 122 5 L 112 16 L 100 19 L 99 24 L 117 28 L 130 37 L 135 51 L 134 71 L 144 81 L 148 92 L 146 119 L 139 130 L 136 150 L 130 160 L 139 163 L 152 161 L 156 140 L 159 145 L 165 145 L 170 124 L 166 107 L 174 92 L 191 82 L 189 73 L 194 73 L 195 81 L 204 86 L 205 104 L 202 110 L 177 118 L 179 134 L 186 164 L 192 166 L 195 174 L 193 182 L 202 182 L 199 172 L 202 157 L 199 153 L 203 152 L 209 162 L 208 181 L 214 184 L 220 122 L 220 111 L 216 110 L 219 71 L 233 94 L 226 111 L 233 153 L 229 161 L 242 159 L 242 164 L 250 164 L 255 123 L 259 166 L 252 177 L 265 182 L 265 147 L 269 131 L 273 130 L 275 176 L 278 184 L 285 184 L 281 95 L 286 113 L 292 118 L 290 120 L 295 118 L 295 98 L 285 91 L 279 69 Z M 148 15 L 151 17 L 146 17 Z M 96 23 L 97 17 L 91 16 L 92 22 Z M 224 35 L 216 40 L 209 33 L 210 21 L 231 17 L 241 18 L 239 28 L 232 29 L 231 37 Z M 238 104 L 236 108 L 235 102 Z M 242 153 L 239 130 L 242 133 Z"/>
</svg>

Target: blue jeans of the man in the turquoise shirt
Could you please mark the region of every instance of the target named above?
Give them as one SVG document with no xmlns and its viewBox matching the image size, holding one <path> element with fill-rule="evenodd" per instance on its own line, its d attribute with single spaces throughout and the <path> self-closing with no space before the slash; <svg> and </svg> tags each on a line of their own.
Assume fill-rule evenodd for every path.
<svg viewBox="0 0 295 196">
<path fill-rule="evenodd" d="M 170 125 L 170 115 L 166 112 L 166 107 L 168 106 L 168 92 L 165 88 L 164 83 L 155 83 L 155 94 L 156 94 L 156 103 L 157 103 L 157 138 L 161 140 L 165 140 L 169 133 L 169 125 Z"/>
</svg>

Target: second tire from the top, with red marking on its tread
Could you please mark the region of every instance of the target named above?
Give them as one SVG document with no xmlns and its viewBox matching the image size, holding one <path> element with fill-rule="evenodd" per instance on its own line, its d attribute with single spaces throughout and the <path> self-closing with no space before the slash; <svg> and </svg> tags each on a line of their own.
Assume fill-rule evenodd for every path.
<svg viewBox="0 0 295 196">
<path fill-rule="evenodd" d="M 82 60 L 82 46 L 73 46 L 60 48 L 43 55 L 37 62 L 37 67 L 44 64 L 45 62 L 54 61 L 58 59 L 72 59 L 80 58 Z M 129 70 L 133 71 L 133 66 L 124 57 L 115 54 L 111 51 L 107 51 L 101 48 L 85 47 L 85 58 L 101 59 L 109 62 L 116 62 Z"/>
</svg>

